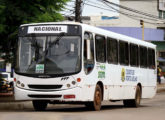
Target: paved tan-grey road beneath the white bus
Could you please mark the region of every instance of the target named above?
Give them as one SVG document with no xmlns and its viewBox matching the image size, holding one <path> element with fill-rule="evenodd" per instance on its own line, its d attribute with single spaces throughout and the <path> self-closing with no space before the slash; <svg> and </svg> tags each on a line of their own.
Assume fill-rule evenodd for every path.
<svg viewBox="0 0 165 120">
<path fill-rule="evenodd" d="M 165 120 L 165 93 L 142 101 L 140 108 L 124 108 L 122 102 L 103 103 L 101 111 L 88 111 L 83 105 L 50 105 L 35 112 L 31 103 L 21 109 L 0 110 L 0 120 Z"/>
</svg>

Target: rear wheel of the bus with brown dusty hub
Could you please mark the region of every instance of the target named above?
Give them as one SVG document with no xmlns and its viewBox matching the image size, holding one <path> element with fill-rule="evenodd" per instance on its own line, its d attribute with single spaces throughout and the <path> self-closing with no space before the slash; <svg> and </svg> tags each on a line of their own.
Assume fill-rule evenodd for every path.
<svg viewBox="0 0 165 120">
<path fill-rule="evenodd" d="M 133 100 L 124 100 L 124 106 L 125 107 L 139 107 L 140 106 L 140 101 L 141 101 L 141 89 L 139 86 L 136 88 L 136 94 L 135 94 L 135 99 Z"/>
</svg>

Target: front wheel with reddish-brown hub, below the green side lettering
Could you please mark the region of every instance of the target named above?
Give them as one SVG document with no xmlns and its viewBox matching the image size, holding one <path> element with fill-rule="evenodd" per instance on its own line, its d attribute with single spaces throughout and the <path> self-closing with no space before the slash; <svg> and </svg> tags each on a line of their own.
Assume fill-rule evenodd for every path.
<svg viewBox="0 0 165 120">
<path fill-rule="evenodd" d="M 102 101 L 102 92 L 99 85 L 96 85 L 95 93 L 94 93 L 94 101 L 88 102 L 85 106 L 89 109 L 99 111 L 101 109 L 101 101 Z"/>
</svg>

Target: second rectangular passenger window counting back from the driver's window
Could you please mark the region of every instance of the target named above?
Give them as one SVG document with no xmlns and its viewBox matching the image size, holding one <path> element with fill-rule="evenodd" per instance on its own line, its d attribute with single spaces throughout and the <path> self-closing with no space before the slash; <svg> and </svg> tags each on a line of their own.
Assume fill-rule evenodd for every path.
<svg viewBox="0 0 165 120">
<path fill-rule="evenodd" d="M 108 63 L 118 63 L 118 41 L 113 38 L 107 38 L 107 61 Z"/>
</svg>

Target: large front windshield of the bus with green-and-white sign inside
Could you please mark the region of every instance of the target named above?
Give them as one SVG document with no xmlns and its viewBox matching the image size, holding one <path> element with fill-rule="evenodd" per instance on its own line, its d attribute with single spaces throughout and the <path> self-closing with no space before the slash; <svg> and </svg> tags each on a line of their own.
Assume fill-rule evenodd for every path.
<svg viewBox="0 0 165 120">
<path fill-rule="evenodd" d="M 16 72 L 62 75 L 80 71 L 80 36 L 19 37 Z"/>
</svg>

